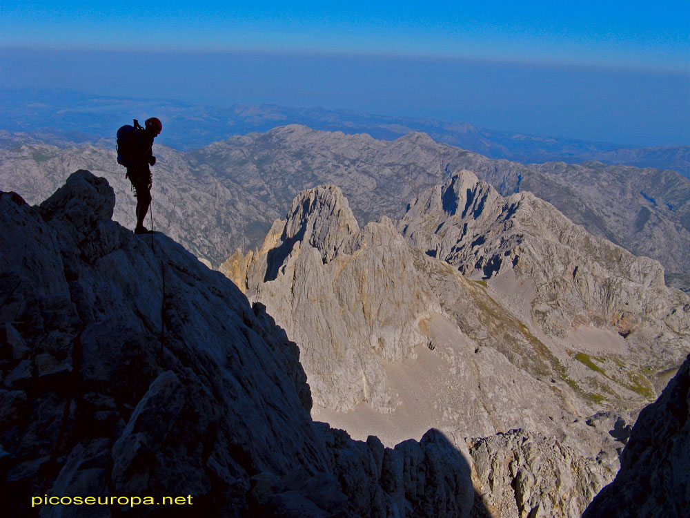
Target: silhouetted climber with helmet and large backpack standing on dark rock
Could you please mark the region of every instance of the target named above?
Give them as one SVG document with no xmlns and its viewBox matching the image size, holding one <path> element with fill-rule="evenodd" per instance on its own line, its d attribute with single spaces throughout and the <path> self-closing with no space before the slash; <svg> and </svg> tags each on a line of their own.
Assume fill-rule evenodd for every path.
<svg viewBox="0 0 690 518">
<path fill-rule="evenodd" d="M 137 198 L 137 227 L 135 234 L 153 233 L 144 227 L 144 218 L 151 204 L 151 185 L 153 182 L 149 166 L 156 163 L 153 156 L 153 140 L 163 129 L 163 124 L 156 117 L 144 122 L 144 128 L 134 119 L 134 126 L 122 126 L 117 130 L 117 163 L 127 168 L 125 178 L 132 182 L 132 189 Z"/>
</svg>

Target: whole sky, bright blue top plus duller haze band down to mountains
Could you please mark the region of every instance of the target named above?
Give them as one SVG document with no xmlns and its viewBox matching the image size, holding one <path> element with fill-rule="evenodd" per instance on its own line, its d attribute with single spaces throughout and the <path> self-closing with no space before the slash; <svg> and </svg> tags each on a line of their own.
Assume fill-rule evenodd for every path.
<svg viewBox="0 0 690 518">
<path fill-rule="evenodd" d="M 2 0 L 0 21 L 12 88 L 690 142 L 687 1 Z"/>
</svg>

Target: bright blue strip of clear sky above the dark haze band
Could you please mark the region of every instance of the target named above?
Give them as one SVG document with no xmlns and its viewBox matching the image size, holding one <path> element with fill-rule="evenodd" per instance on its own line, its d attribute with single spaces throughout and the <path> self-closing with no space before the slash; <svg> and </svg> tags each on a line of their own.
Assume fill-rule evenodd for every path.
<svg viewBox="0 0 690 518">
<path fill-rule="evenodd" d="M 17 1 L 0 44 L 376 52 L 687 70 L 687 1 Z"/>
</svg>

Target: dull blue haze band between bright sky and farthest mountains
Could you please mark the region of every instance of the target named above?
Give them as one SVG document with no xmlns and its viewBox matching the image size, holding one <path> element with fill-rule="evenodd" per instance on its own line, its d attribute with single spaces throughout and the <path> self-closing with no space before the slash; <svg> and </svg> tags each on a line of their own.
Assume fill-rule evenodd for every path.
<svg viewBox="0 0 690 518">
<path fill-rule="evenodd" d="M 631 146 L 690 144 L 690 75 L 469 59 L 268 52 L 0 51 L 2 86 L 469 122 Z"/>
</svg>

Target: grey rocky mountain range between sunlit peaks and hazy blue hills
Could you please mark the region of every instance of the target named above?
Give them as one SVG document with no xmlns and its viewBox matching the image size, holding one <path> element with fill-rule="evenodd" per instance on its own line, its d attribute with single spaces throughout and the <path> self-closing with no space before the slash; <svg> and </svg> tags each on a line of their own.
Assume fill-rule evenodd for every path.
<svg viewBox="0 0 690 518">
<path fill-rule="evenodd" d="M 70 171 L 90 169 L 112 181 L 119 200 L 115 218 L 133 223 L 134 198 L 115 150 L 108 149 L 112 142 L 106 148 L 105 141 L 65 149 L 14 146 L 24 136 L 3 135 L 13 146 L 0 149 L 3 190 L 39 202 Z M 390 142 L 298 125 L 231 137 L 189 153 L 157 144 L 155 151 L 156 228 L 213 265 L 238 247 L 262 242 L 303 189 L 339 186 L 364 224 L 382 215 L 401 218 L 424 189 L 468 169 L 501 195 L 535 193 L 595 236 L 659 260 L 669 285 L 690 286 L 690 181 L 673 171 L 600 162 L 524 165 L 435 142 L 424 133 Z"/>
</svg>

